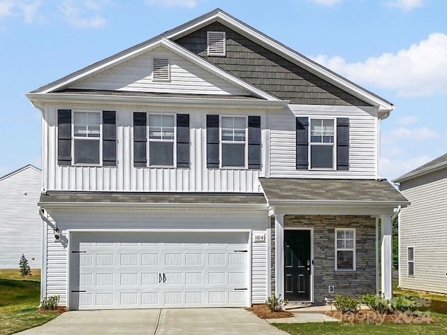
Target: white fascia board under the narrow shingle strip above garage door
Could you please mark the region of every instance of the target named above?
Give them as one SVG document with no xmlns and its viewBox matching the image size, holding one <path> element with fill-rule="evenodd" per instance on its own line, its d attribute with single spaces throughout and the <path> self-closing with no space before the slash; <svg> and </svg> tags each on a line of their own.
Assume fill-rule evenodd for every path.
<svg viewBox="0 0 447 335">
<path fill-rule="evenodd" d="M 230 210 L 230 211 L 266 211 L 267 204 L 175 204 L 172 202 L 38 202 L 45 209 L 183 209 L 183 210 Z"/>
</svg>

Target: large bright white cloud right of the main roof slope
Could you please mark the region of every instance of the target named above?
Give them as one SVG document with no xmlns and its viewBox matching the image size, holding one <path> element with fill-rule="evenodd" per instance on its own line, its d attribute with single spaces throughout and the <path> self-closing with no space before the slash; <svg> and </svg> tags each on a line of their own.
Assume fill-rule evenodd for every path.
<svg viewBox="0 0 447 335">
<path fill-rule="evenodd" d="M 314 60 L 353 82 L 397 90 L 399 96 L 447 95 L 446 34 L 430 34 L 426 40 L 406 50 L 357 63 L 325 55 Z"/>
</svg>

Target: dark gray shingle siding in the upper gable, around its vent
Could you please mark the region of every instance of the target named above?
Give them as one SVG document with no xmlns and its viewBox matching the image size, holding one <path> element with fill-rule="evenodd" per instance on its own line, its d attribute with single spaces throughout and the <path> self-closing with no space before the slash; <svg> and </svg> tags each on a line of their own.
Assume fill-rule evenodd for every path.
<svg viewBox="0 0 447 335">
<path fill-rule="evenodd" d="M 207 31 L 226 31 L 226 57 L 207 56 Z M 175 42 L 233 75 L 278 98 L 290 100 L 291 103 L 369 105 L 219 22 L 194 31 Z"/>
</svg>

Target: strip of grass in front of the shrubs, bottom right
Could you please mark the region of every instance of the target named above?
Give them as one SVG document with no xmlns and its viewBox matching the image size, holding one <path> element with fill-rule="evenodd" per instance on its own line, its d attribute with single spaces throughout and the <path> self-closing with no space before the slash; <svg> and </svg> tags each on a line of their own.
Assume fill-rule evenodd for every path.
<svg viewBox="0 0 447 335">
<path fill-rule="evenodd" d="M 321 323 L 276 323 L 275 327 L 292 335 L 438 335 L 447 333 L 447 315 L 432 313 L 437 322 L 431 325 L 350 325 L 348 323 L 321 322 Z"/>
</svg>

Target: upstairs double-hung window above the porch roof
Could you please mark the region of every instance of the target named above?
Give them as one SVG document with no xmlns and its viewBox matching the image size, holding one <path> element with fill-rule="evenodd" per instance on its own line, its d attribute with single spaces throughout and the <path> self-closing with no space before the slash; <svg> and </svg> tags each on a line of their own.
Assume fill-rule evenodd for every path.
<svg viewBox="0 0 447 335">
<path fill-rule="evenodd" d="M 335 166 L 335 120 L 310 120 L 310 168 L 333 169 Z"/>
</svg>

